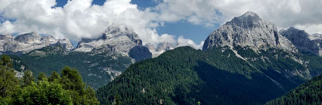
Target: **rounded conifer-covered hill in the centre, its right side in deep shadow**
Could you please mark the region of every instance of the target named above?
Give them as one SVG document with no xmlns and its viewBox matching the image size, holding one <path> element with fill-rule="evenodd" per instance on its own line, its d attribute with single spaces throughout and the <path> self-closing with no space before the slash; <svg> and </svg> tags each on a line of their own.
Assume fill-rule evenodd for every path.
<svg viewBox="0 0 322 105">
<path fill-rule="evenodd" d="M 122 104 L 249 105 L 264 104 L 299 84 L 275 78 L 284 82 L 277 85 L 229 48 L 203 52 L 186 46 L 132 64 L 99 88 L 97 97 L 103 105 L 111 104 L 117 93 Z"/>
</svg>

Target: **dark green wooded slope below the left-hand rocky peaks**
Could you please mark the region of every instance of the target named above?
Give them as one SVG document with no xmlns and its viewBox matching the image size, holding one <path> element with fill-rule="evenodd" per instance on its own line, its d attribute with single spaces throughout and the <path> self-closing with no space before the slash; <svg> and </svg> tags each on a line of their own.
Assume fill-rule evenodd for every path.
<svg viewBox="0 0 322 105">
<path fill-rule="evenodd" d="M 62 46 L 43 47 L 21 56 L 10 55 L 14 59 L 14 69 L 18 71 L 30 69 L 37 77 L 41 72 L 50 75 L 52 71 L 60 72 L 61 68 L 69 66 L 79 70 L 82 78 L 94 89 L 106 85 L 114 74 L 108 69 L 121 72 L 132 64 L 129 57 L 118 53 L 68 53 Z M 117 58 L 117 59 L 115 59 Z M 25 68 L 22 69 L 21 66 Z"/>
</svg>

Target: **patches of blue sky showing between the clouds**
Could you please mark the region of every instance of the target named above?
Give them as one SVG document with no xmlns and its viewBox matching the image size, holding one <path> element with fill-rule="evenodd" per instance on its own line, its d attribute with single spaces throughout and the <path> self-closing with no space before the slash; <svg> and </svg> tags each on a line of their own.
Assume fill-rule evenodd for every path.
<svg viewBox="0 0 322 105">
<path fill-rule="evenodd" d="M 56 2 L 56 6 L 63 7 L 67 3 L 67 0 L 56 0 Z M 104 2 L 105 0 L 93 0 L 92 4 L 103 5 Z M 140 10 L 157 5 L 153 0 L 132 0 L 131 3 L 137 4 L 138 9 Z M 216 27 L 218 27 L 218 25 Z M 175 39 L 179 36 L 184 36 L 185 38 L 191 39 L 195 43 L 199 44 L 201 41 L 204 41 L 214 29 L 206 28 L 203 25 L 194 25 L 186 21 L 178 21 L 166 22 L 164 27 L 158 27 L 156 30 L 159 35 L 174 35 Z M 74 46 L 78 43 L 77 41 L 72 42 Z"/>
</svg>

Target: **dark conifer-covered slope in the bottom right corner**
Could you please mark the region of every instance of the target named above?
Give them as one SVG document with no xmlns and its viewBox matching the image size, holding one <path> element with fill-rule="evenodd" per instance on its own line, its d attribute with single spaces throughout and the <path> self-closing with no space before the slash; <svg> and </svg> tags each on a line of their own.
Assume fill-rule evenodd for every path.
<svg viewBox="0 0 322 105">
<path fill-rule="evenodd" d="M 322 75 L 291 90 L 289 93 L 269 101 L 266 105 L 321 105 Z"/>
</svg>

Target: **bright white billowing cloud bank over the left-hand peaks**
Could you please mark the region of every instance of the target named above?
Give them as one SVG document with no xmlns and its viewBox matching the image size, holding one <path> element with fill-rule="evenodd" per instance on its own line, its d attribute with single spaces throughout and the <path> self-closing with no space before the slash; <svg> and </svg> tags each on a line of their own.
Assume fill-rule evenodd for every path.
<svg viewBox="0 0 322 105">
<path fill-rule="evenodd" d="M 153 28 L 159 25 L 151 20 L 156 17 L 156 13 L 140 11 L 130 1 L 108 0 L 99 6 L 92 5 L 92 0 L 71 0 L 62 8 L 54 7 L 57 4 L 55 0 L 1 0 L 2 17 L 15 21 L 3 23 L 0 33 L 37 31 L 40 34 L 80 40 L 83 37 L 99 37 L 114 23 L 132 28 L 145 42 L 160 42 L 174 37 L 157 35 Z"/>
</svg>

